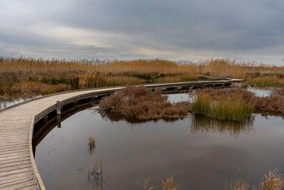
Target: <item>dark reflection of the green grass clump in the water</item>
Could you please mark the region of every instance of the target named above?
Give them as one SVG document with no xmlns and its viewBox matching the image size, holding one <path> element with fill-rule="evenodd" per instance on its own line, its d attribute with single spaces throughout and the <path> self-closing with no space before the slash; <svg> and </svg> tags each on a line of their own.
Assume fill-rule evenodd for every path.
<svg viewBox="0 0 284 190">
<path fill-rule="evenodd" d="M 192 115 L 190 131 L 193 134 L 198 132 L 229 134 L 237 138 L 239 134 L 249 134 L 253 131 L 253 120 L 254 118 L 251 117 L 244 122 L 221 121 L 204 115 Z"/>
</svg>

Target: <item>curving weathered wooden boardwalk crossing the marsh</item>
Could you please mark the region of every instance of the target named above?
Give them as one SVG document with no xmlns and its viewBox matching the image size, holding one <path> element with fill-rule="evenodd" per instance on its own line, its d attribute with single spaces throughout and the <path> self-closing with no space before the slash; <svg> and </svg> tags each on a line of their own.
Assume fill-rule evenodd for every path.
<svg viewBox="0 0 284 190">
<path fill-rule="evenodd" d="M 223 88 L 241 79 L 202 80 L 182 83 L 143 85 L 152 90 L 160 88 L 163 93 L 187 92 L 195 88 Z M 141 86 L 141 85 L 140 85 Z M 45 189 L 33 157 L 34 126 L 43 120 L 57 117 L 61 111 L 74 105 L 99 100 L 124 86 L 77 90 L 34 98 L 0 110 L 0 189 Z M 35 143 L 37 144 L 37 143 Z"/>
</svg>

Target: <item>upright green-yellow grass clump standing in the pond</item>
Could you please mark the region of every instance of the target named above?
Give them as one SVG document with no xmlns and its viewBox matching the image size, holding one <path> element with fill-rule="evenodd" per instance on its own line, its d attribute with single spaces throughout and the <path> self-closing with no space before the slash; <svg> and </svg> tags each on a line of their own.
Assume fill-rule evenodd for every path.
<svg viewBox="0 0 284 190">
<path fill-rule="evenodd" d="M 192 103 L 192 112 L 219 120 L 243 122 L 251 117 L 254 105 L 241 99 L 230 97 L 213 98 L 202 91 L 197 92 Z"/>
</svg>

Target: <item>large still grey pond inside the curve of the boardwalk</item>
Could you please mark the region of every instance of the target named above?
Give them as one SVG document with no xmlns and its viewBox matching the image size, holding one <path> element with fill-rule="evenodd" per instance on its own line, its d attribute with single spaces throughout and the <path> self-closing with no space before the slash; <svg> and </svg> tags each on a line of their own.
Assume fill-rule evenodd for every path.
<svg viewBox="0 0 284 190">
<path fill-rule="evenodd" d="M 92 154 L 89 136 L 96 139 Z M 129 124 L 102 118 L 93 107 L 53 128 L 36 147 L 35 162 L 47 189 L 141 189 L 143 177 L 160 186 L 171 175 L 182 189 L 224 189 L 240 176 L 257 184 L 275 167 L 284 174 L 283 147 L 280 117 L 255 115 L 246 125 L 192 115 Z M 87 171 L 100 155 L 103 183 L 96 184 Z"/>
</svg>

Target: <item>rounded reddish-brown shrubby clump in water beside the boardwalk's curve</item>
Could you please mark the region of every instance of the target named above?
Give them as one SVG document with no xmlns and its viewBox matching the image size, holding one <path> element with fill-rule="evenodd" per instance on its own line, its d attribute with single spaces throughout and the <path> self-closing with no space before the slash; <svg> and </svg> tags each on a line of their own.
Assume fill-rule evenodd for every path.
<svg viewBox="0 0 284 190">
<path fill-rule="evenodd" d="M 190 102 L 170 103 L 160 90 L 126 87 L 114 95 L 102 98 L 99 107 L 103 112 L 112 112 L 126 119 L 178 119 L 187 116 Z"/>
</svg>

